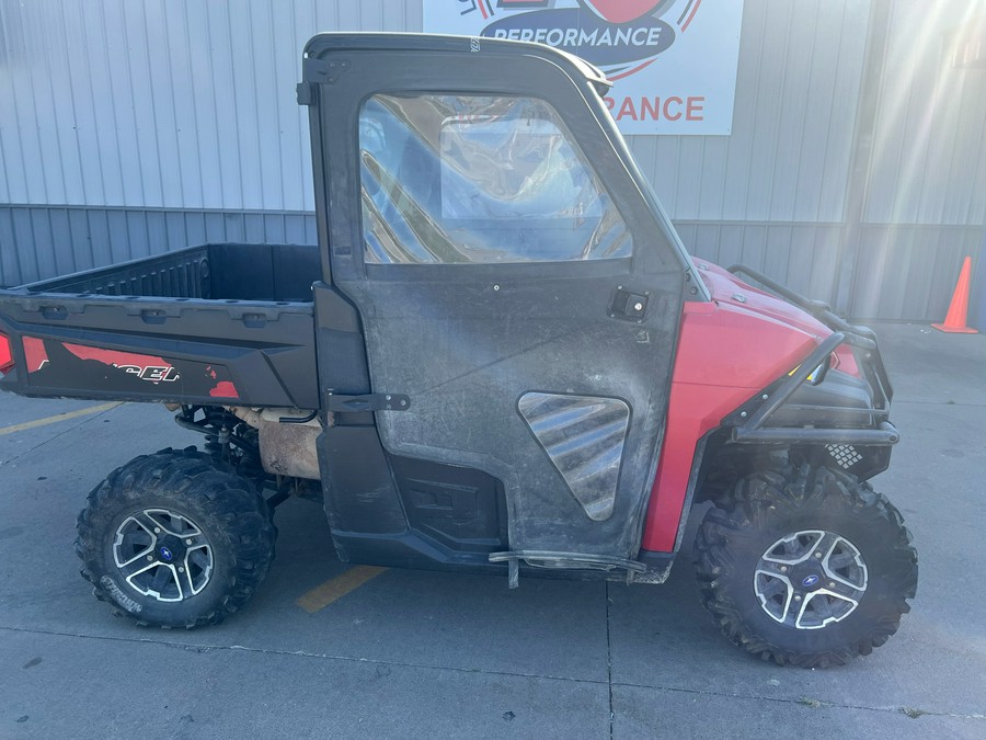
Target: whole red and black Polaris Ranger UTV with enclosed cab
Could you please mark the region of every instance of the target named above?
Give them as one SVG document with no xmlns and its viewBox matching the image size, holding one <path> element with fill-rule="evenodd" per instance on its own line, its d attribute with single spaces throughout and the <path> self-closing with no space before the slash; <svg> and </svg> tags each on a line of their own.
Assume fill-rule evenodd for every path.
<svg viewBox="0 0 986 740">
<path fill-rule="evenodd" d="M 538 44 L 316 36 L 318 248 L 0 292 L 0 387 L 164 402 L 205 434 L 89 496 L 96 595 L 218 623 L 290 496 L 323 502 L 343 561 L 661 583 L 710 501 L 696 570 L 726 637 L 804 667 L 882 645 L 917 557 L 864 482 L 897 442 L 874 335 L 691 260 L 607 87 Z"/>
</svg>

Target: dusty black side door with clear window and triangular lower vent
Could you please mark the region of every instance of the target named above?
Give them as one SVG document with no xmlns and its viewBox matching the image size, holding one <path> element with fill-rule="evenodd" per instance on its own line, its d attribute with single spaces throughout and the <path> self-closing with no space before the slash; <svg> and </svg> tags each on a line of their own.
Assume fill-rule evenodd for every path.
<svg viewBox="0 0 986 740">
<path fill-rule="evenodd" d="M 321 48 L 313 122 L 332 283 L 372 392 L 409 400 L 376 413 L 383 448 L 502 482 L 493 560 L 632 568 L 684 250 L 571 59 L 378 38 Z"/>
</svg>

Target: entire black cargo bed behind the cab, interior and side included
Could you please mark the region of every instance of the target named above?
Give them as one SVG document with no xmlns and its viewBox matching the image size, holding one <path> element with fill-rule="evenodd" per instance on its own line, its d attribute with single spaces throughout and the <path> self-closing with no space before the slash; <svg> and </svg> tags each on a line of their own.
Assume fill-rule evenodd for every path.
<svg viewBox="0 0 986 740">
<path fill-rule="evenodd" d="M 316 247 L 213 243 L 0 291 L 18 368 L 0 387 L 318 408 L 319 276 Z"/>
</svg>

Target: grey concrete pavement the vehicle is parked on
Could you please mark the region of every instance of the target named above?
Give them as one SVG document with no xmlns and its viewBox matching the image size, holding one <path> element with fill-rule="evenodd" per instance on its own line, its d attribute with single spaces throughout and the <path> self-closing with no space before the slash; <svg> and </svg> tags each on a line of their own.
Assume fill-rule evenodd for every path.
<svg viewBox="0 0 986 740">
<path fill-rule="evenodd" d="M 198 436 L 139 405 L 4 434 L 98 403 L 0 395 L 0 738 L 984 737 L 986 338 L 878 331 L 904 439 L 873 482 L 920 583 L 886 646 L 827 671 L 730 646 L 687 555 L 663 587 L 388 570 L 309 613 L 346 566 L 305 501 L 242 613 L 140 629 L 79 578 L 74 517 L 114 467 Z"/>
</svg>

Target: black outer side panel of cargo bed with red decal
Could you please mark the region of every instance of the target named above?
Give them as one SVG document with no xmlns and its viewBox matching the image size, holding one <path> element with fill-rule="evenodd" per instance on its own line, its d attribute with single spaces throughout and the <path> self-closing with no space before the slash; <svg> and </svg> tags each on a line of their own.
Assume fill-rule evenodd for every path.
<svg viewBox="0 0 986 740">
<path fill-rule="evenodd" d="M 310 303 L 0 291 L 25 396 L 316 409 Z"/>
</svg>

